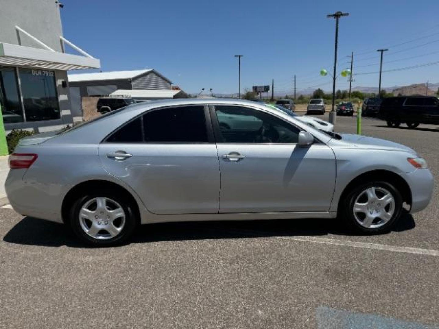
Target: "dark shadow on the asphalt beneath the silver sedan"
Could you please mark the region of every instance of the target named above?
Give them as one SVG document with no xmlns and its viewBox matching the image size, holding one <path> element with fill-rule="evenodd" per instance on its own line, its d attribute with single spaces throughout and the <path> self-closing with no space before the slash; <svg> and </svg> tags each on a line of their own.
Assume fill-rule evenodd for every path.
<svg viewBox="0 0 439 329">
<path fill-rule="evenodd" d="M 413 217 L 406 213 L 393 231 L 413 229 Z M 273 221 L 178 222 L 141 225 L 127 242 L 255 238 L 270 236 L 353 235 L 337 219 L 282 219 Z M 47 247 L 88 247 L 79 242 L 66 225 L 25 217 L 3 239 L 8 243 Z"/>
</svg>

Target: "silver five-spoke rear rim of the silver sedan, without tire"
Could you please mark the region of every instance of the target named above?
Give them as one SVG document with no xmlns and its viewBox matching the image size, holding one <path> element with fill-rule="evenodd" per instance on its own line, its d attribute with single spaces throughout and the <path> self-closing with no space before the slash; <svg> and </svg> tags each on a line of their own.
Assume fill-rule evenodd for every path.
<svg viewBox="0 0 439 329">
<path fill-rule="evenodd" d="M 116 201 L 106 197 L 88 200 L 79 211 L 83 231 L 97 240 L 118 236 L 125 226 L 125 211 Z"/>
</svg>

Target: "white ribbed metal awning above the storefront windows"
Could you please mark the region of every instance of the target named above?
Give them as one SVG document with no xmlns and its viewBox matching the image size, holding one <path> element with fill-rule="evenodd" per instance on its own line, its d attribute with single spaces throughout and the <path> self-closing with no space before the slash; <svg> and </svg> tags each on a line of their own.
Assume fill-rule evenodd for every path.
<svg viewBox="0 0 439 329">
<path fill-rule="evenodd" d="M 96 58 L 18 46 L 11 43 L 0 43 L 1 64 L 64 71 L 101 67 L 101 61 Z"/>
</svg>

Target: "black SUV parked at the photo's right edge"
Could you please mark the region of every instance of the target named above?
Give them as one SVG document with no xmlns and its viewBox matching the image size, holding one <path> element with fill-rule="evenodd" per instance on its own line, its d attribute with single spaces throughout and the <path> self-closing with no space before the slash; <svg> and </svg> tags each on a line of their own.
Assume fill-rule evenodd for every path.
<svg viewBox="0 0 439 329">
<path fill-rule="evenodd" d="M 439 99 L 427 96 L 385 98 L 378 118 L 386 120 L 387 125 L 394 128 L 401 123 L 409 128 L 415 128 L 420 123 L 439 125 Z"/>
</svg>

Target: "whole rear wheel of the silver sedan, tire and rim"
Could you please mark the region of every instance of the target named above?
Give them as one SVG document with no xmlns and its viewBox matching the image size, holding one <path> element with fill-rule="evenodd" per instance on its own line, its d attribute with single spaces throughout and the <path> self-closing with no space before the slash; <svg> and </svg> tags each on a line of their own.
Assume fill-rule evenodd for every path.
<svg viewBox="0 0 439 329">
<path fill-rule="evenodd" d="M 84 242 L 109 247 L 128 239 L 136 227 L 135 206 L 120 193 L 93 191 L 77 197 L 70 224 Z"/>
</svg>

